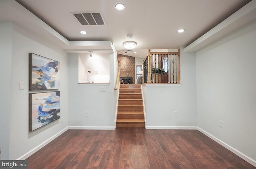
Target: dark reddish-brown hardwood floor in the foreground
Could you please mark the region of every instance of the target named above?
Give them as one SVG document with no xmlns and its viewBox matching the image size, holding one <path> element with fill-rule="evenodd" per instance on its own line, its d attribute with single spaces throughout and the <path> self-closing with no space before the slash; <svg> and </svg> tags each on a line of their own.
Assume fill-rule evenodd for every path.
<svg viewBox="0 0 256 169">
<path fill-rule="evenodd" d="M 68 130 L 28 169 L 255 169 L 197 130 Z"/>
</svg>

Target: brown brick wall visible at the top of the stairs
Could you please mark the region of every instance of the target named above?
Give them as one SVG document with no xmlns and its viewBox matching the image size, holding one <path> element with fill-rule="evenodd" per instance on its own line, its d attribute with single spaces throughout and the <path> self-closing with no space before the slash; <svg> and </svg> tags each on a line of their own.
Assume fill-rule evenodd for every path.
<svg viewBox="0 0 256 169">
<path fill-rule="evenodd" d="M 135 84 L 135 57 L 118 54 L 118 60 L 121 63 L 120 77 L 132 77 L 132 83 Z"/>
</svg>

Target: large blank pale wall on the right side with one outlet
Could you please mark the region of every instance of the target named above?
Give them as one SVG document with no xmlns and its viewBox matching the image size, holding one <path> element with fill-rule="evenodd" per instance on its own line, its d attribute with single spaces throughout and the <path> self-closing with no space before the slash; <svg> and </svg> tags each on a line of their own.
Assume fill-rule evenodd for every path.
<svg viewBox="0 0 256 169">
<path fill-rule="evenodd" d="M 198 127 L 254 160 L 255 44 L 254 22 L 196 53 Z"/>
</svg>

